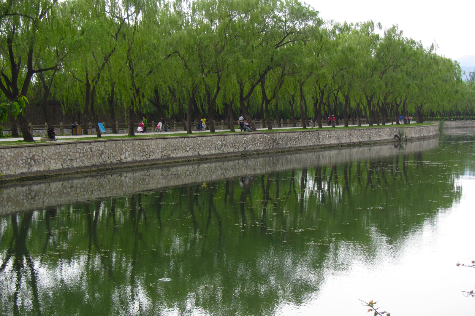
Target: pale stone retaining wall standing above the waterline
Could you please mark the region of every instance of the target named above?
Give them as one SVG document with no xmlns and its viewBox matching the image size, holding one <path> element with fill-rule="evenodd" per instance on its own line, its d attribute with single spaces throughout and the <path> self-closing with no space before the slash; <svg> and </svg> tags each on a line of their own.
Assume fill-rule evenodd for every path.
<svg viewBox="0 0 475 316">
<path fill-rule="evenodd" d="M 402 131 L 402 132 L 401 132 Z M 307 129 L 282 132 L 200 134 L 186 137 L 95 139 L 0 147 L 1 180 L 78 170 L 233 157 L 325 146 L 417 139 L 438 135 L 438 125 L 364 129 Z"/>
</svg>

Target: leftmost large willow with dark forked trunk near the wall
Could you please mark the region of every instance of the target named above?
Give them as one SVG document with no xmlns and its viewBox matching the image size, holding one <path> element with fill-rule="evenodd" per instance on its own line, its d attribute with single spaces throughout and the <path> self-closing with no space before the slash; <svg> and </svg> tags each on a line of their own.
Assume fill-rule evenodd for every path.
<svg viewBox="0 0 475 316">
<path fill-rule="evenodd" d="M 8 1 L 2 4 L 0 90 L 11 102 L 27 96 L 34 75 L 57 69 L 66 54 L 65 20 L 57 15 L 56 5 L 57 0 Z M 45 51 L 53 49 L 56 56 L 40 63 Z M 33 141 L 25 116 L 20 116 L 18 122 L 23 139 Z M 18 136 L 16 124 L 12 126 L 12 136 Z"/>
</svg>

